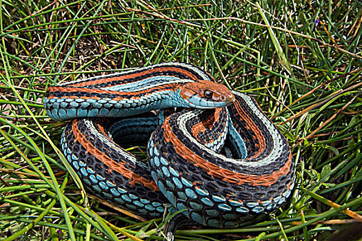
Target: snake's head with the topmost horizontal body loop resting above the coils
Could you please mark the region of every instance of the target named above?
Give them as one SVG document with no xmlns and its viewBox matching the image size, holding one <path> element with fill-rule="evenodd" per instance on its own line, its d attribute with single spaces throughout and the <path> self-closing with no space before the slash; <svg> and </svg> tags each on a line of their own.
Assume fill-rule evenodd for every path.
<svg viewBox="0 0 362 241">
<path fill-rule="evenodd" d="M 49 87 L 44 107 L 50 118 L 60 121 L 132 116 L 168 107 L 212 109 L 232 102 L 230 90 L 198 67 L 165 63 Z"/>
</svg>

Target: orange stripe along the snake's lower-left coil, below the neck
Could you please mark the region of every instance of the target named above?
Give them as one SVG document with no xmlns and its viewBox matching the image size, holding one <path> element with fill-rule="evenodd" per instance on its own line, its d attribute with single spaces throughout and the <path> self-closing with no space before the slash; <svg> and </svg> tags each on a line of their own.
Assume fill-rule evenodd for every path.
<svg viewBox="0 0 362 241">
<path fill-rule="evenodd" d="M 134 186 L 134 184 L 138 183 L 139 185 L 143 185 L 145 187 L 148 187 L 152 191 L 159 191 L 159 187 L 157 187 L 156 183 L 153 180 L 148 180 L 147 178 L 144 178 L 143 176 L 139 176 L 138 174 L 135 174 L 133 171 L 125 167 L 124 162 L 117 163 L 116 161 L 112 160 L 109 156 L 103 153 L 103 151 L 97 149 L 94 147 L 94 145 L 86 138 L 86 136 L 83 135 L 79 131 L 78 120 L 74 119 L 72 122 L 72 132 L 74 134 L 74 143 L 75 141 L 78 141 L 81 143 L 81 145 L 87 150 L 89 154 L 100 160 L 104 165 L 110 168 L 109 172 L 116 171 L 128 180 L 130 180 L 130 185 Z"/>
</svg>

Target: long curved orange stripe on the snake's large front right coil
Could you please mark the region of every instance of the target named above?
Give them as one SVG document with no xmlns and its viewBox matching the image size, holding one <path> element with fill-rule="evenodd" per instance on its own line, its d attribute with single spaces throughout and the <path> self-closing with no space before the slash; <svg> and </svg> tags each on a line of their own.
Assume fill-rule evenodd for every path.
<svg viewBox="0 0 362 241">
<path fill-rule="evenodd" d="M 194 154 L 193 151 L 183 145 L 174 132 L 172 132 L 172 129 L 169 125 L 169 119 L 170 118 L 166 118 L 162 125 L 163 130 L 165 131 L 164 136 L 166 143 L 172 143 L 177 154 L 179 154 L 185 160 L 188 160 L 190 163 L 193 163 L 196 167 L 200 167 L 212 177 L 216 176 L 225 182 L 231 182 L 237 185 L 243 185 L 246 183 L 253 186 L 270 186 L 274 184 L 281 176 L 287 175 L 290 171 L 290 165 L 292 164 L 292 154 L 290 152 L 288 161 L 285 162 L 281 169 L 273 171 L 272 174 L 263 174 L 261 176 L 241 174 L 236 171 L 224 169 L 214 163 L 210 163 L 208 160 L 205 160 L 197 154 Z"/>
</svg>

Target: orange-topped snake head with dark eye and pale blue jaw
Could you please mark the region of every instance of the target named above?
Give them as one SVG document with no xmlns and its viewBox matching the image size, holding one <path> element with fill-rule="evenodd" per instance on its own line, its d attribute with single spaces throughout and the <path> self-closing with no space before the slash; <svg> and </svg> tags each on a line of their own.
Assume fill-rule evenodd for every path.
<svg viewBox="0 0 362 241">
<path fill-rule="evenodd" d="M 235 101 L 228 87 L 212 81 L 186 83 L 181 86 L 180 95 L 186 105 L 199 109 L 225 107 Z"/>
</svg>

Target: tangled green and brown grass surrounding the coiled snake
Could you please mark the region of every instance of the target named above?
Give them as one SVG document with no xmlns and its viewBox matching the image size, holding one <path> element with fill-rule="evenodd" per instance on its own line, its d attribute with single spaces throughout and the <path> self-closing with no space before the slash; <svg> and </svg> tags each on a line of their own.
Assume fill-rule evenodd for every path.
<svg viewBox="0 0 362 241">
<path fill-rule="evenodd" d="M 86 196 L 42 99 L 56 83 L 168 61 L 254 96 L 298 162 L 278 213 L 177 240 L 361 238 L 361 1 L 0 3 L 0 240 L 162 239 L 162 220 Z"/>
</svg>

